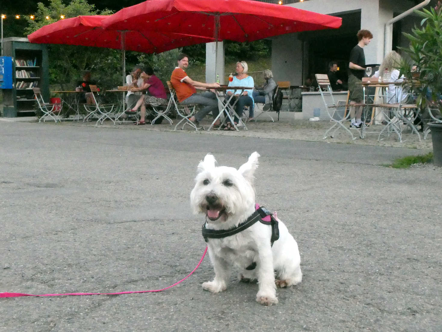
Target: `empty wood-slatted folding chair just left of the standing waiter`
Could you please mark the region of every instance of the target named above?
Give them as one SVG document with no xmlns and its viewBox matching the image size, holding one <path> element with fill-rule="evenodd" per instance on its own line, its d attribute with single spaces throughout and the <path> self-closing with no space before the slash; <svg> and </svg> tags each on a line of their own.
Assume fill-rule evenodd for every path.
<svg viewBox="0 0 442 332">
<path fill-rule="evenodd" d="M 328 132 L 331 130 L 333 130 L 333 132 L 331 133 L 330 137 L 335 137 L 335 132 L 339 128 L 344 128 L 345 131 L 350 134 L 351 139 L 357 139 L 357 137 L 353 136 L 353 133 L 343 124 L 343 122 L 348 120 L 350 117 L 350 112 L 347 112 L 347 108 L 349 106 L 361 106 L 363 104 L 348 104 L 348 94 L 347 102 L 336 104 L 327 74 L 316 74 L 315 77 L 316 81 L 318 82 L 319 92 L 322 100 L 324 101 L 325 109 L 330 117 L 330 122 L 333 122 L 332 126 L 327 129 L 322 139 L 326 139 L 328 137 Z"/>
</svg>

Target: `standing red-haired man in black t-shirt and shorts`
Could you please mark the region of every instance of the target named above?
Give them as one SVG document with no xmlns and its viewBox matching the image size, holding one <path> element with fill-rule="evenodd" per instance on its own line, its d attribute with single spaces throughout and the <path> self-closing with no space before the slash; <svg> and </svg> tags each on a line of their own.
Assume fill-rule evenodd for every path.
<svg viewBox="0 0 442 332">
<path fill-rule="evenodd" d="M 350 91 L 350 104 L 361 103 L 364 99 L 364 91 L 362 85 L 356 84 L 362 81 L 365 73 L 365 54 L 364 46 L 370 44 L 373 35 L 368 30 L 358 31 L 358 45 L 353 47 L 350 52 L 350 75 L 348 77 L 348 90 Z M 351 125 L 350 127 L 361 128 L 362 106 L 354 106 L 350 110 Z"/>
</svg>

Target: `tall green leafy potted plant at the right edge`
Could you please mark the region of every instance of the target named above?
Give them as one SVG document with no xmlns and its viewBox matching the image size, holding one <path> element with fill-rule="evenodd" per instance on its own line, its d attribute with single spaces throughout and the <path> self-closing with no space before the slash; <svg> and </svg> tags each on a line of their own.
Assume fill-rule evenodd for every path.
<svg viewBox="0 0 442 332">
<path fill-rule="evenodd" d="M 410 40 L 410 46 L 402 50 L 416 69 L 412 71 L 408 63 L 403 63 L 401 73 L 407 81 L 415 82 L 412 90 L 417 95 L 421 120 L 431 129 L 434 164 L 442 166 L 442 122 L 431 122 L 429 114 L 431 108 L 432 115 L 442 121 L 442 4 L 439 1 L 436 7 L 415 13 L 422 17 L 421 27 L 414 27 L 411 34 L 403 33 Z"/>
</svg>

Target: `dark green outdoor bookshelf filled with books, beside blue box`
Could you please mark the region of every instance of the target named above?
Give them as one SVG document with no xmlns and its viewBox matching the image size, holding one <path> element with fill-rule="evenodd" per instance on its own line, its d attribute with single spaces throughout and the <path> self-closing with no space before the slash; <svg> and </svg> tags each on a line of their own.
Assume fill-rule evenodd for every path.
<svg viewBox="0 0 442 332">
<path fill-rule="evenodd" d="M 4 55 L 12 57 L 12 89 L 3 90 L 4 110 L 16 116 L 34 115 L 32 88 L 42 89 L 43 98 L 49 101 L 47 47 L 18 37 L 5 38 L 3 45 Z"/>
</svg>

